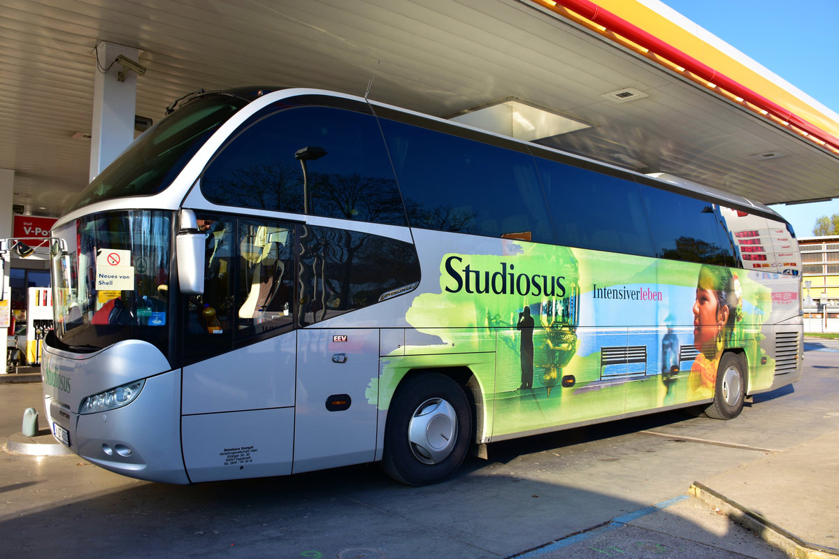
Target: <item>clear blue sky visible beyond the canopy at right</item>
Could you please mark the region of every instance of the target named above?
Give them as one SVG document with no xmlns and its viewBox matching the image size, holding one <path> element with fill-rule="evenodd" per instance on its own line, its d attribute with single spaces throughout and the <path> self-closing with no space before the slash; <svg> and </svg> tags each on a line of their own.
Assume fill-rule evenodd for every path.
<svg viewBox="0 0 839 559">
<path fill-rule="evenodd" d="M 662 2 L 839 113 L 839 0 Z M 839 189 L 839 174 L 836 188 Z M 839 214 L 839 199 L 777 205 L 773 209 L 789 220 L 796 236 L 812 236 L 816 218 Z"/>
</svg>

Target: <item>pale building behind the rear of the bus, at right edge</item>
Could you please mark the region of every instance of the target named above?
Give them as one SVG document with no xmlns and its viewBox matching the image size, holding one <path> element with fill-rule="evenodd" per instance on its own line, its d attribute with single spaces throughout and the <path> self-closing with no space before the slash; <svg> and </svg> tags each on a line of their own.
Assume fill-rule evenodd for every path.
<svg viewBox="0 0 839 559">
<path fill-rule="evenodd" d="M 839 236 L 800 237 L 805 332 L 839 332 Z"/>
</svg>

